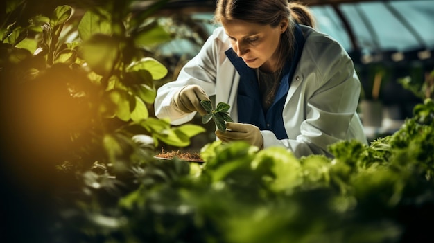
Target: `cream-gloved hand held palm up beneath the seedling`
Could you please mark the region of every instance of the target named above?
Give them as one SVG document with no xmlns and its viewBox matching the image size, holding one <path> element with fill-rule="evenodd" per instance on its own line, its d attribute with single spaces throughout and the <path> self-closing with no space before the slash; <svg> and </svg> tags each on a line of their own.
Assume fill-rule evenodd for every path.
<svg viewBox="0 0 434 243">
<path fill-rule="evenodd" d="M 226 131 L 216 130 L 216 136 L 223 143 L 231 141 L 246 141 L 250 145 L 263 148 L 263 138 L 257 126 L 244 123 L 226 123 Z"/>
</svg>

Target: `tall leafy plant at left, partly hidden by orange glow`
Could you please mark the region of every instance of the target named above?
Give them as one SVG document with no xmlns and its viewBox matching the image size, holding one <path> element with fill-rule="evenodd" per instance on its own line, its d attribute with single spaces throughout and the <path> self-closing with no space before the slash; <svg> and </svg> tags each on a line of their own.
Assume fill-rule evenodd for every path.
<svg viewBox="0 0 434 243">
<path fill-rule="evenodd" d="M 1 45 L 8 55 L 1 58 L 1 74 L 7 77 L 4 87 L 16 92 L 5 101 L 22 111 L 19 120 L 33 121 L 34 126 L 24 131 L 35 137 L 48 134 L 41 151 L 64 145 L 65 153 L 78 152 L 74 158 L 88 158 L 89 168 L 97 160 L 129 161 L 128 151 L 136 146 L 132 136 L 137 134 L 150 136 L 155 146 L 162 141 L 182 147 L 189 145 L 191 136 L 204 132 L 197 125 L 172 128 L 168 121 L 150 117 L 155 80 L 167 74 L 150 52 L 153 39 L 171 39 L 150 11 L 166 1 L 156 1 L 134 15 L 128 12 L 130 2 L 87 6 L 78 1 L 85 8 L 83 15 L 73 15 L 70 6 L 58 6 L 51 16 L 35 13 L 28 26 L 12 23 L 4 30 Z M 7 10 L 21 8 L 26 8 L 25 1 L 10 4 Z"/>
</svg>

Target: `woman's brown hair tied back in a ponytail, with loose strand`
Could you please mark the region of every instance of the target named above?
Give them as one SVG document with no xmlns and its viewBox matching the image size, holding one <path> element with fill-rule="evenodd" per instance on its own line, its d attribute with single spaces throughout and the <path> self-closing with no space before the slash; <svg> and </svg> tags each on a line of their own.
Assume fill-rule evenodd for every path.
<svg viewBox="0 0 434 243">
<path fill-rule="evenodd" d="M 315 28 L 315 19 L 308 7 L 302 3 L 288 0 L 218 0 L 214 20 L 221 23 L 223 20 L 241 20 L 256 24 L 279 26 L 282 19 L 289 19 L 289 26 L 282 33 L 277 53 L 277 65 L 284 66 L 288 56 L 294 53 L 295 23 Z M 286 40 L 286 41 L 285 41 Z"/>
</svg>

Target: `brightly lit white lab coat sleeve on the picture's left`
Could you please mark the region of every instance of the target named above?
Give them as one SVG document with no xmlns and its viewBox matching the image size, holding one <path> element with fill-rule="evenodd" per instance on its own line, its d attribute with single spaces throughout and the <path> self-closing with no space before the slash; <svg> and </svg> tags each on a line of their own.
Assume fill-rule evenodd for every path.
<svg viewBox="0 0 434 243">
<path fill-rule="evenodd" d="M 168 118 L 172 125 L 180 125 L 193 119 L 197 111 L 184 113 L 171 106 L 173 95 L 189 84 L 198 84 L 207 96 L 216 93 L 216 69 L 218 59 L 218 31 L 215 30 L 202 46 L 198 55 L 193 57 L 180 71 L 177 80 L 164 84 L 157 90 L 154 102 L 155 116 Z"/>
</svg>

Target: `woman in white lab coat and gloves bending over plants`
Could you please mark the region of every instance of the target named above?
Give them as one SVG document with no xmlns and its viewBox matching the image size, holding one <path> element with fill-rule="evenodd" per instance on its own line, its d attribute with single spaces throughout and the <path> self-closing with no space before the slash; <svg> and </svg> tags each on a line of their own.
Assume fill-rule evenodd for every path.
<svg viewBox="0 0 434 243">
<path fill-rule="evenodd" d="M 231 105 L 229 143 L 284 146 L 295 156 L 325 154 L 342 140 L 367 143 L 356 114 L 360 82 L 335 40 L 318 33 L 309 9 L 287 0 L 219 0 L 222 24 L 175 82 L 155 100 L 158 118 L 173 125 L 205 114 L 200 100 Z"/>
</svg>

